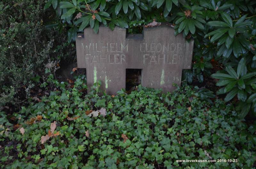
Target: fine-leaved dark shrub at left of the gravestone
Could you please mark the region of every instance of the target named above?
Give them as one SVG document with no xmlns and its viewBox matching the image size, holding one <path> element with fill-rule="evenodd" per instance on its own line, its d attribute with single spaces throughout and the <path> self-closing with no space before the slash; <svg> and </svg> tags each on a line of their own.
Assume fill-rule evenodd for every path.
<svg viewBox="0 0 256 169">
<path fill-rule="evenodd" d="M 45 78 L 47 63 L 57 69 L 60 58 L 68 61 L 75 53 L 65 43 L 66 33 L 45 28 L 56 17 L 43 8 L 44 0 L 0 2 L 0 109 L 27 99 L 40 77 Z"/>
</svg>

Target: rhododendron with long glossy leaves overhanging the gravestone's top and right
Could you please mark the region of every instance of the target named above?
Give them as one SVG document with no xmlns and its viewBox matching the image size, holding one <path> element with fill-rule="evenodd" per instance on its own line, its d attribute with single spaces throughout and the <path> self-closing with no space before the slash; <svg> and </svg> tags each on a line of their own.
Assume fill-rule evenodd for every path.
<svg viewBox="0 0 256 169">
<path fill-rule="evenodd" d="M 220 70 L 212 75 L 222 86 L 217 94 L 227 93 L 226 102 L 236 96 L 241 117 L 249 110 L 256 113 L 256 1 L 48 0 L 45 8 L 50 6 L 69 27 L 68 41 L 86 26 L 95 33 L 100 24 L 138 33 L 154 19 L 171 23 L 175 35 L 195 39 L 193 69 L 183 71 L 188 83 L 203 82 Z"/>
</svg>

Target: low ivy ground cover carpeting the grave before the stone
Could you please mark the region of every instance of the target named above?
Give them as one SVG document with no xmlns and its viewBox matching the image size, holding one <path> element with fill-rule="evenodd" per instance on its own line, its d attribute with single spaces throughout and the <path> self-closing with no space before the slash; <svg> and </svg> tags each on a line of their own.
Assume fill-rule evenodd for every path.
<svg viewBox="0 0 256 169">
<path fill-rule="evenodd" d="M 206 101 L 214 97 L 208 90 L 185 86 L 161 94 L 139 86 L 113 97 L 99 96 L 96 83 L 84 95 L 84 77 L 73 88 L 52 77 L 56 90 L 13 114 L 24 135 L 1 113 L 0 168 L 255 168 L 255 126 L 238 119 L 232 105 Z M 106 116 L 86 115 L 101 108 Z M 38 115 L 42 120 L 28 124 Z M 60 135 L 41 144 L 53 121 Z M 211 158 L 237 162 L 176 162 Z"/>
</svg>

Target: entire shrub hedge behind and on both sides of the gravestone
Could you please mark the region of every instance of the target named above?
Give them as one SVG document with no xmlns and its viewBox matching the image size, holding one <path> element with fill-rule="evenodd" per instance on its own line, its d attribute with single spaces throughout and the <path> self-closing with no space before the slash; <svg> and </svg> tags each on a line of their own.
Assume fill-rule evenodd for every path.
<svg viewBox="0 0 256 169">
<path fill-rule="evenodd" d="M 0 107 L 19 106 L 45 80 L 46 68 L 54 72 L 60 62 L 76 60 L 74 43 L 66 39 L 74 41 L 86 26 L 95 33 L 100 24 L 141 33 L 155 19 L 195 39 L 193 68 L 183 71 L 183 79 L 207 87 L 218 71 L 212 75 L 220 79 L 217 94 L 237 102 L 242 118 L 255 115 L 255 1 L 8 0 L 0 9 Z"/>
</svg>

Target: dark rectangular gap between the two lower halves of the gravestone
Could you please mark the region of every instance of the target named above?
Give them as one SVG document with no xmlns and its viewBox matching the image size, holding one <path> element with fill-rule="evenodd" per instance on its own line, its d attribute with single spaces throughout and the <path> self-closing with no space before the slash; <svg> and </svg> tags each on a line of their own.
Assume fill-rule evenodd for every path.
<svg viewBox="0 0 256 169">
<path fill-rule="evenodd" d="M 141 84 L 141 69 L 126 69 L 125 90 L 132 90 Z"/>
</svg>

